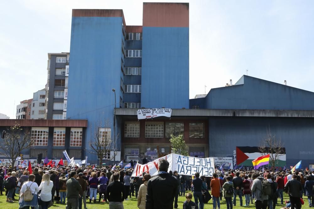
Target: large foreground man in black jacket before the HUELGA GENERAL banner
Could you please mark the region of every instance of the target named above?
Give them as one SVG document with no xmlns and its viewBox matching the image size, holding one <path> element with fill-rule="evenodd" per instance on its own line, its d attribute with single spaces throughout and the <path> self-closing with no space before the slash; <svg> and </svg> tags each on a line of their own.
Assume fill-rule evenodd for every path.
<svg viewBox="0 0 314 209">
<path fill-rule="evenodd" d="M 167 173 L 169 162 L 161 159 L 158 162 L 158 175 L 147 183 L 146 209 L 172 209 L 173 199 L 178 192 L 178 182 Z"/>
</svg>

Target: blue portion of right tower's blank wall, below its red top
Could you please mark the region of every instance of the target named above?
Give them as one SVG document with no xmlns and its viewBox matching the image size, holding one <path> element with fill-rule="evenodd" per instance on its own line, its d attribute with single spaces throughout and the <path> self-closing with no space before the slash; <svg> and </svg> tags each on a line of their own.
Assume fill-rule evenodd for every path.
<svg viewBox="0 0 314 209">
<path fill-rule="evenodd" d="M 141 106 L 189 108 L 189 28 L 143 27 Z"/>
</svg>

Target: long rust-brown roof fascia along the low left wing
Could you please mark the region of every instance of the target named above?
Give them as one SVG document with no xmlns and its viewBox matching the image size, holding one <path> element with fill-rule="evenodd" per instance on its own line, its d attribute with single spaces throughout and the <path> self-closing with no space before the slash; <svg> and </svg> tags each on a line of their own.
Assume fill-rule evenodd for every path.
<svg viewBox="0 0 314 209">
<path fill-rule="evenodd" d="M 87 120 L 0 119 L 0 126 L 13 126 L 15 123 L 23 127 L 87 127 Z"/>
</svg>

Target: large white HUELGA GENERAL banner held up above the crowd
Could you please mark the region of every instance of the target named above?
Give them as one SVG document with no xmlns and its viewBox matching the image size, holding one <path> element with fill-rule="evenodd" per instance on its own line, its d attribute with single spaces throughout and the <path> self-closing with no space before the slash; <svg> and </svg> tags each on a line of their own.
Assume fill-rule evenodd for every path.
<svg viewBox="0 0 314 209">
<path fill-rule="evenodd" d="M 176 170 L 182 175 L 195 175 L 198 172 L 200 176 L 209 177 L 213 176 L 215 172 L 214 158 L 197 158 L 171 153 L 145 165 L 136 164 L 132 176 L 141 176 L 143 172 L 149 173 L 152 176 L 157 175 L 160 159 L 166 159 L 169 162 L 168 172 Z"/>
</svg>

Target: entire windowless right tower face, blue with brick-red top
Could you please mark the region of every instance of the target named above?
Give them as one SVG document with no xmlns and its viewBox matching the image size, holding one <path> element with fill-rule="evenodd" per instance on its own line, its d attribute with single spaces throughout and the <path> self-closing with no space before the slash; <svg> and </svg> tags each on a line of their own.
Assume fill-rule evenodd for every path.
<svg viewBox="0 0 314 209">
<path fill-rule="evenodd" d="M 189 108 L 188 3 L 143 3 L 141 106 Z"/>
</svg>

